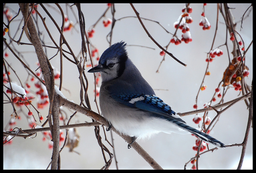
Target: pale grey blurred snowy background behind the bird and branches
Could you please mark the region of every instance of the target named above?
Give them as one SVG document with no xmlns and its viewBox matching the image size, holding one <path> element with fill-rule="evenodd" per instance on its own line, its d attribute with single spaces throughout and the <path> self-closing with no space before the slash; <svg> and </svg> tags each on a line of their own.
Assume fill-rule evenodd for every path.
<svg viewBox="0 0 256 173">
<path fill-rule="evenodd" d="M 72 7 L 72 4 L 60 4 L 64 13 L 68 16 L 68 19 L 74 22 L 74 26 L 70 31 L 64 32 L 64 36 L 71 46 L 73 52 L 77 57 L 80 57 L 81 50 L 81 36 L 80 28 L 77 21 L 77 9 L 76 6 Z M 241 25 L 241 19 L 250 6 L 250 4 L 229 4 L 232 8 L 234 18 L 236 20 L 236 29 L 240 36 L 244 40 L 245 48 L 247 48 L 252 41 L 252 12 L 245 18 Z M 54 16 L 56 22 L 61 26 L 61 15 L 54 4 L 44 4 L 49 12 Z M 136 10 L 140 13 L 140 17 L 147 18 L 159 22 L 166 30 L 174 34 L 174 22 L 176 22 L 182 14 L 182 8 L 185 4 L 134 4 Z M 180 61 L 187 64 L 186 67 L 182 66 L 169 56 L 165 57 L 165 61 L 160 66 L 159 72 L 156 73 L 158 66 L 163 58 L 160 56 L 160 48 L 158 48 L 152 40 L 147 36 L 146 32 L 142 28 L 137 18 L 123 18 L 126 16 L 136 16 L 134 10 L 132 10 L 130 4 L 115 4 L 115 18 L 116 21 L 113 33 L 112 44 L 115 42 L 125 41 L 127 46 L 127 52 L 129 58 L 134 62 L 137 68 L 142 73 L 142 76 L 148 81 L 148 83 L 155 89 L 156 95 L 162 98 L 168 105 L 172 106 L 176 112 L 187 112 L 194 110 L 193 105 L 195 103 L 196 95 L 198 93 L 200 84 L 203 80 L 204 73 L 206 71 L 206 56 L 210 51 L 212 41 L 214 38 L 214 32 L 216 29 L 216 16 L 217 16 L 217 4 L 207 4 L 205 6 L 205 16 L 208 18 L 211 29 L 202 30 L 199 26 L 199 22 L 202 19 L 203 4 L 190 4 L 193 12 L 190 16 L 193 22 L 189 24 L 190 33 L 192 36 L 192 42 L 185 44 L 182 42 L 180 45 L 170 44 L 168 51 L 171 52 Z M 15 16 L 18 12 L 18 4 L 6 4 L 6 7 L 10 9 L 12 15 Z M 81 4 L 82 12 L 86 21 L 86 31 L 92 26 L 108 8 L 107 4 Z M 47 16 L 47 14 L 38 6 L 38 11 L 43 17 L 50 29 L 50 32 L 55 39 L 59 42 L 60 34 L 54 26 L 53 22 Z M 106 18 L 112 19 L 111 10 L 109 9 L 105 15 Z M 23 26 L 23 22 L 20 24 L 22 14 L 11 23 L 10 34 L 14 37 L 14 33 L 19 27 L 18 34 L 14 37 L 18 40 Z M 90 43 L 98 49 L 99 56 L 109 47 L 106 35 L 111 30 L 111 25 L 104 27 L 102 23 L 103 19 L 95 26 L 95 33 L 90 38 Z M 7 24 L 6 18 L 4 22 Z M 171 34 L 168 34 L 163 28 L 156 22 L 149 20 L 143 20 L 144 25 L 150 32 L 151 36 L 161 45 L 166 46 L 170 39 Z M 46 30 L 38 18 L 38 28 L 44 34 L 44 44 L 54 46 L 52 41 L 48 37 Z M 177 35 L 181 38 L 182 32 L 178 30 Z M 8 36 L 4 36 L 7 42 L 10 42 Z M 22 42 L 29 43 L 26 36 L 23 34 Z M 213 48 L 225 44 L 226 41 L 226 25 L 224 19 L 219 14 L 218 30 Z M 15 45 L 16 43 L 12 43 Z M 132 46 L 139 45 L 139 46 Z M 142 46 L 147 46 L 142 47 Z M 33 46 L 16 45 L 16 51 L 23 54 L 24 61 L 29 64 L 32 70 L 36 70 L 37 57 L 34 52 Z M 232 42 L 228 38 L 228 48 L 230 57 L 232 59 Z M 64 49 L 68 50 L 66 46 Z M 203 108 L 204 103 L 209 102 L 215 92 L 215 88 L 218 87 L 219 82 L 222 80 L 223 73 L 228 66 L 228 55 L 225 46 L 220 47 L 224 54 L 220 57 L 216 57 L 215 60 L 210 63 L 209 71 L 210 76 L 206 76 L 204 85 L 207 86 L 206 90 L 201 91 L 198 95 L 198 109 Z M 56 49 L 47 48 L 46 55 L 48 58 L 56 54 Z M 18 60 L 12 55 L 12 53 L 5 49 L 4 53 L 8 53 L 9 56 L 6 61 L 15 69 L 20 80 L 22 82 L 27 80 L 28 72 L 24 70 L 24 67 Z M 97 57 L 97 56 L 96 56 Z M 94 64 L 97 63 L 96 57 L 94 57 Z M 69 56 L 69 58 L 72 58 Z M 59 55 L 53 58 L 51 61 L 52 66 L 55 68 L 60 67 Z M 87 63 L 89 64 L 89 62 Z M 251 85 L 252 82 L 252 47 L 246 54 L 246 66 L 250 69 L 250 75 L 246 77 L 246 82 Z M 91 67 L 86 68 L 86 72 Z M 63 89 L 62 93 L 69 100 L 73 100 L 75 103 L 80 103 L 80 83 L 78 78 L 78 70 L 74 64 L 71 64 L 65 58 L 63 59 Z M 14 74 L 10 74 L 11 79 L 18 83 L 18 79 Z M 93 74 L 86 73 L 89 81 L 88 94 L 90 98 L 90 104 L 92 110 L 97 112 L 96 105 L 94 103 L 94 78 Z M 31 82 L 31 85 L 33 83 Z M 58 86 L 59 80 L 56 80 Z M 30 89 L 33 90 L 34 86 Z M 223 89 L 223 87 L 221 87 Z M 225 97 L 224 102 L 230 101 L 239 95 L 239 91 L 235 91 L 234 88 L 230 88 Z M 36 95 L 36 94 L 34 94 Z M 5 99 L 5 97 L 4 97 Z M 220 99 L 217 97 L 216 103 Z M 32 101 L 33 103 L 33 101 Z M 36 104 L 36 103 L 35 103 Z M 16 121 L 15 127 L 22 129 L 29 129 L 28 120 L 26 119 L 27 110 L 20 112 L 20 120 Z M 72 115 L 73 111 L 64 109 L 68 116 Z M 4 118 L 3 127 L 5 128 L 10 120 L 10 115 L 13 113 L 12 106 L 10 104 L 4 104 Z M 48 107 L 40 109 L 40 113 L 44 120 L 48 114 Z M 203 113 L 199 114 L 201 117 Z M 214 118 L 216 113 L 214 111 L 209 112 L 211 119 Z M 38 117 L 36 117 L 38 119 Z M 197 128 L 192 119 L 194 115 L 182 117 L 186 123 L 192 127 Z M 44 120 L 42 122 L 44 122 Z M 82 114 L 77 114 L 76 118 L 72 119 L 72 123 L 91 122 L 91 119 Z M 232 106 L 230 109 L 221 114 L 218 123 L 214 129 L 210 132 L 210 135 L 216 139 L 222 141 L 224 144 L 242 143 L 244 140 L 244 134 L 248 121 L 248 110 L 244 101 L 240 101 Z M 39 122 L 39 121 L 38 121 Z M 201 124 L 201 123 L 200 123 Z M 42 125 L 42 123 L 38 123 Z M 105 128 L 105 127 L 104 127 Z M 6 129 L 9 130 L 9 129 Z M 103 132 L 101 130 L 101 132 Z M 64 131 L 65 133 L 65 131 Z M 74 150 L 76 152 L 69 152 L 68 148 L 60 153 L 61 156 L 61 169 L 100 169 L 105 165 L 102 157 L 101 148 L 98 145 L 97 139 L 94 135 L 94 127 L 80 127 L 78 128 L 80 135 L 79 145 Z M 107 138 L 111 141 L 110 132 L 106 132 Z M 65 136 L 65 135 L 63 135 Z M 108 149 L 112 150 L 106 141 L 104 141 L 104 134 L 101 133 L 102 141 Z M 152 169 L 150 165 L 142 159 L 134 149 L 127 149 L 127 143 L 118 135 L 113 133 L 114 146 L 116 152 L 116 159 L 118 161 L 118 169 Z M 43 141 L 44 135 L 37 133 L 35 138 L 23 139 L 15 137 L 12 139 L 10 145 L 4 145 L 3 147 L 3 168 L 4 169 L 46 169 L 51 161 L 52 149 L 48 148 L 49 141 Z M 186 162 L 190 158 L 196 155 L 196 151 L 192 149 L 195 144 L 196 138 L 190 134 L 180 135 L 172 133 L 165 134 L 159 133 L 152 138 L 145 141 L 137 141 L 148 153 L 151 155 L 160 166 L 164 169 L 184 169 Z M 212 145 L 209 145 L 212 148 Z M 61 143 L 62 147 L 62 143 Z M 200 156 L 199 169 L 236 169 L 240 160 L 242 147 L 227 147 L 225 149 L 218 149 L 214 152 L 209 152 Z M 79 154 L 78 154 L 79 153 Z M 106 156 L 108 159 L 108 155 Z M 191 169 L 192 164 L 188 163 L 186 169 Z M 110 169 L 116 169 L 114 160 Z M 252 129 L 248 139 L 246 147 L 246 154 L 244 157 L 242 169 L 252 169 Z"/>
</svg>

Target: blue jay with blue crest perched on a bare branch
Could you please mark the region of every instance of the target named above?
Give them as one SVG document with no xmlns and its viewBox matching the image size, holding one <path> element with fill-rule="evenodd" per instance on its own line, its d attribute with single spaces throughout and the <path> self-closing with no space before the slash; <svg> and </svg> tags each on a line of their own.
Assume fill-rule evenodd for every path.
<svg viewBox="0 0 256 173">
<path fill-rule="evenodd" d="M 128 58 L 124 42 L 106 49 L 98 66 L 88 72 L 100 72 L 102 77 L 99 98 L 102 115 L 108 120 L 110 127 L 114 126 L 120 133 L 131 136 L 132 143 L 137 138 L 143 139 L 159 132 L 185 130 L 207 143 L 225 147 L 210 135 L 186 125 L 169 105 L 156 96 Z"/>
</svg>

